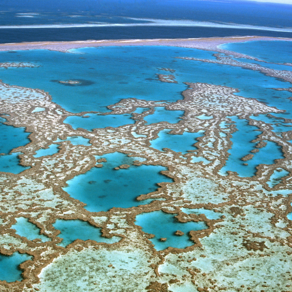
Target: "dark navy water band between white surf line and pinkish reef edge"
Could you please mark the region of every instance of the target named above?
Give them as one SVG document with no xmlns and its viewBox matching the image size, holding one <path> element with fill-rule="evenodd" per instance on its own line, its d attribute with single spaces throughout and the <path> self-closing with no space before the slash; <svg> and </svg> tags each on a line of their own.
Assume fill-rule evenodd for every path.
<svg viewBox="0 0 292 292">
<path fill-rule="evenodd" d="M 80 27 L 0 29 L 0 43 L 89 39 L 153 39 L 230 36 L 292 37 L 292 33 L 215 27 Z"/>
</svg>

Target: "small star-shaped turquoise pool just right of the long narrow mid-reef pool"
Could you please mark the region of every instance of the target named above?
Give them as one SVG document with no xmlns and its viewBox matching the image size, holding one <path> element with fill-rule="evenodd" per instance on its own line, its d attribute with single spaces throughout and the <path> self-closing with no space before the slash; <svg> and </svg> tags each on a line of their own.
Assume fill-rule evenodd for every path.
<svg viewBox="0 0 292 292">
<path fill-rule="evenodd" d="M 146 125 L 167 122 L 169 124 L 176 124 L 183 116 L 183 110 L 166 110 L 164 107 L 157 107 L 153 114 L 147 115 L 144 117 L 144 120 L 147 121 Z"/>
</svg>

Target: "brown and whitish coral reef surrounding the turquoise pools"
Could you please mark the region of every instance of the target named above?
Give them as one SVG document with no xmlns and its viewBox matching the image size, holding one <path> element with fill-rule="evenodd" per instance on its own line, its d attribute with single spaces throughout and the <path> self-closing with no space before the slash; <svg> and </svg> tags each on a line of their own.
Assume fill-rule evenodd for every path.
<svg viewBox="0 0 292 292">
<path fill-rule="evenodd" d="M 250 39 L 233 38 L 232 40 Z M 220 38 L 197 42 L 194 40 L 165 40 L 161 44 L 192 45 L 206 50 L 215 50 L 217 44 L 226 41 L 226 39 Z M 118 41 L 110 44 L 112 43 L 125 45 Z M 149 43 L 155 42 L 150 41 Z M 105 42 L 89 42 L 89 45 L 96 44 L 108 45 Z M 135 41 L 132 44 L 139 44 L 139 42 Z M 31 44 L 33 48 L 38 48 L 39 45 Z M 72 45 L 65 43 L 62 47 L 60 44 L 51 43 L 44 45 L 44 48 L 50 46 L 55 50 L 66 51 Z M 75 45 L 80 46 L 80 44 Z M 84 44 L 81 45 L 84 46 Z M 13 46 L 22 49 L 25 44 Z M 0 45 L 0 50 L 3 48 L 8 47 Z M 217 52 L 226 53 L 221 49 L 218 49 Z M 230 58 L 221 58 L 219 55 L 216 61 L 222 64 L 231 62 Z M 234 65 L 245 66 L 237 62 L 232 66 Z M 259 67 L 255 70 L 262 71 Z M 164 71 L 173 73 L 167 68 Z M 266 74 L 270 74 L 269 76 L 274 74 L 279 78 L 290 80 L 288 73 L 270 71 Z M 169 76 L 172 75 L 164 76 L 168 76 L 165 77 L 167 80 L 174 80 L 169 79 Z M 268 107 L 257 100 L 234 95 L 235 92 L 238 92 L 236 89 L 203 83 L 186 84 L 188 89 L 183 92 L 183 99 L 177 102 L 157 104 L 155 101 L 129 98 L 121 100 L 116 105 L 109 105 L 109 108 L 116 114 L 130 113 L 138 107 L 149 108 L 149 111 L 155 107 L 183 110 L 184 115 L 179 123 L 167 125 L 167 128 L 171 130 L 170 133 L 179 135 L 183 131 L 204 131 L 204 135 L 195 143 L 197 150 L 190 149 L 184 155 L 167 148 L 159 151 L 150 147 L 151 140 L 158 137 L 158 133 L 165 128 L 165 125 L 164 123 L 145 125 L 143 117 L 147 113 L 137 114 L 134 125 L 110 130 L 98 128 L 92 132 L 84 129 L 74 130 L 68 124 L 63 123 L 64 119 L 73 113 L 53 103 L 48 93 L 0 84 L 1 111 L 8 114 L 3 117 L 9 125 L 25 127 L 26 131 L 31 133 L 31 143 L 13 150 L 22 153 L 20 154 L 20 164 L 31 166 L 31 168 L 17 175 L 0 173 L 0 252 L 4 255 L 11 255 L 18 251 L 33 256 L 31 261 L 21 264 L 23 280 L 12 283 L 2 281 L 0 282 L 1 291 L 32 292 L 42 291 L 42 289 L 45 291 L 43 288 L 45 286 L 42 285 L 46 285 L 46 283 L 53 283 L 52 287 L 56 287 L 55 291 L 70 291 L 68 287 L 72 287 L 70 285 L 74 285 L 74 281 L 80 281 L 87 285 L 88 291 L 94 291 L 94 289 L 104 289 L 104 286 L 102 288 L 94 287 L 100 287 L 101 279 L 107 277 L 110 281 L 116 279 L 116 283 L 122 283 L 115 285 L 125 285 L 126 280 L 123 278 L 125 270 L 119 267 L 118 263 L 113 263 L 114 256 L 111 256 L 110 260 L 104 260 L 103 265 L 99 265 L 99 262 L 103 260 L 105 253 L 116 255 L 117 252 L 121 252 L 126 255 L 133 250 L 137 250 L 139 255 L 145 254 L 143 260 L 136 259 L 137 267 L 140 265 L 141 271 L 143 271 L 136 277 L 138 284 L 145 284 L 143 289 L 150 292 L 171 291 L 172 287 L 182 288 L 182 285 L 190 290 L 234 292 L 242 288 L 240 287 L 243 284 L 242 278 L 238 279 L 238 277 L 244 273 L 260 275 L 261 279 L 265 279 L 267 282 L 244 283 L 246 287 L 251 287 L 249 290 L 259 290 L 263 285 L 265 287 L 270 285 L 271 291 L 272 289 L 276 291 L 277 287 L 284 290 L 286 285 L 290 285 L 292 231 L 291 221 L 287 219 L 287 214 L 292 212 L 289 192 L 289 189 L 292 189 L 291 173 L 285 177 L 284 183 L 276 185 L 272 191 L 266 186 L 266 183 L 275 169 L 292 170 L 292 146 L 287 141 L 289 134 L 284 139 L 275 135 L 270 128 L 264 128 L 260 122 L 249 118 L 251 114 L 282 111 Z M 3 95 L 5 98 L 1 98 Z M 46 110 L 32 113 L 32 109 L 36 107 Z M 84 116 L 87 113 L 82 112 L 76 115 Z M 209 120 L 197 118 L 202 114 L 213 118 Z M 228 149 L 232 147 L 230 138 L 236 130 L 236 125 L 230 123 L 231 120 L 228 116 L 231 115 L 247 119 L 251 125 L 260 129 L 262 134 L 255 141 L 257 148 L 264 147 L 266 145 L 264 141 L 274 141 L 282 147 L 284 159 L 276 160 L 271 165 L 258 165 L 253 178 L 241 178 L 231 172 L 226 177 L 221 176 L 219 170 L 228 159 Z M 222 122 L 229 124 L 223 128 L 220 126 Z M 139 134 L 140 137 L 133 136 L 131 132 Z M 225 135 L 220 135 L 220 133 Z M 88 138 L 91 140 L 92 146 L 74 146 L 66 141 L 58 142 L 61 145 L 60 151 L 53 156 L 43 158 L 33 156 L 39 148 L 46 148 L 57 138 L 65 139 L 68 136 Z M 95 156 L 115 151 L 139 157 L 140 160 L 137 160 L 135 165 L 159 164 L 167 167 L 168 170 L 164 174 L 173 178 L 174 183 L 160 183 L 157 191 L 143 194 L 137 198 L 138 201 L 158 199 L 148 204 L 128 209 L 112 208 L 107 212 L 87 211 L 84 208 L 85 204 L 71 198 L 63 187 L 74 176 L 85 173 L 94 166 L 102 167 L 102 163 L 106 160 L 104 158 L 96 160 Z M 205 164 L 203 161 L 193 162 L 193 158 L 200 157 L 208 160 L 209 164 Z M 121 168 L 128 168 L 128 164 L 115 167 L 117 170 Z M 187 215 L 182 212 L 182 208 L 213 210 L 222 216 L 219 216 L 219 219 L 208 219 L 207 213 Z M 169 247 L 163 251 L 157 251 L 149 240 L 155 235 L 144 233 L 142 228 L 135 224 L 137 215 L 157 210 L 175 214 L 181 223 L 204 222 L 207 228 L 190 231 L 189 237 L 193 241 L 193 245 L 185 249 Z M 49 237 L 51 241 L 40 242 L 37 238 L 28 240 L 20 237 L 10 228 L 18 217 L 29 218 L 30 222 L 40 228 L 41 234 Z M 122 239 L 113 244 L 77 239 L 63 248 L 57 245 L 60 242 L 59 231 L 55 230 L 52 225 L 56 219 L 87 221 L 93 226 L 100 227 L 104 237 L 117 236 Z M 178 230 L 175 235 L 182 236 L 183 232 Z M 161 240 L 166 240 L 166 238 L 161 238 Z M 100 254 L 98 254 L 99 252 Z M 94 258 L 94 255 L 97 254 L 98 257 Z M 74 264 L 77 259 L 80 261 L 80 273 L 74 273 L 74 270 L 71 269 L 73 266 L 70 265 L 71 258 L 76 258 Z M 59 262 L 61 264 L 58 264 Z M 276 281 L 274 274 L 270 275 L 266 272 L 275 262 L 281 264 L 281 269 L 277 271 Z M 92 269 L 83 271 L 85 263 L 92 264 Z M 146 266 L 144 266 L 145 263 Z M 206 267 L 210 263 L 212 263 L 212 268 L 208 270 Z M 169 272 L 171 266 L 176 269 L 175 274 Z M 261 269 L 257 267 L 261 267 Z M 97 269 L 94 270 L 95 274 L 93 272 L 91 274 L 93 268 Z M 56 269 L 55 274 L 54 269 Z M 102 274 L 101 277 L 97 276 L 100 275 L 99 273 Z M 62 280 L 60 280 L 60 275 L 64 275 Z M 224 275 L 228 275 L 228 277 Z M 129 279 L 133 278 L 135 277 L 129 277 Z M 230 287 L 233 290 L 230 290 Z"/>
</svg>

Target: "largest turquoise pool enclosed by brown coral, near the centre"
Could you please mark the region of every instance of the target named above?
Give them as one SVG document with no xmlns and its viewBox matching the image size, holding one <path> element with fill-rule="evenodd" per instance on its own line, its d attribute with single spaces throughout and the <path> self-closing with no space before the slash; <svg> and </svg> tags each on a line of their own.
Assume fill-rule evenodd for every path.
<svg viewBox="0 0 292 292">
<path fill-rule="evenodd" d="M 97 156 L 96 159 L 105 158 L 103 167 L 93 167 L 84 174 L 75 176 L 64 187 L 71 197 L 86 203 L 85 209 L 91 212 L 108 211 L 113 207 L 130 208 L 146 201 L 137 201 L 142 194 L 154 192 L 156 183 L 172 182 L 160 171 L 166 170 L 160 165 L 133 165 L 137 160 L 126 154 L 114 152 Z M 130 165 L 127 169 L 115 170 L 114 167 L 122 164 Z"/>
</svg>

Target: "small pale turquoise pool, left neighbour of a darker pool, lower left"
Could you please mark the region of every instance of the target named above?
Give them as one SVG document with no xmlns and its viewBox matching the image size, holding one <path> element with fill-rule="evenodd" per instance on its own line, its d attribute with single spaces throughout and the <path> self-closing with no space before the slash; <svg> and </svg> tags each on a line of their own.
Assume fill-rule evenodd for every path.
<svg viewBox="0 0 292 292">
<path fill-rule="evenodd" d="M 27 218 L 19 217 L 16 219 L 17 222 L 10 228 L 16 230 L 16 234 L 22 237 L 26 237 L 28 240 L 40 238 L 42 242 L 49 241 L 51 238 L 39 234 L 40 229 L 32 222 L 29 222 Z"/>
</svg>

